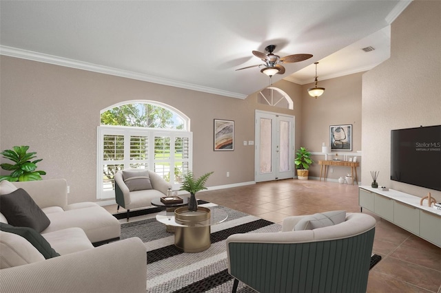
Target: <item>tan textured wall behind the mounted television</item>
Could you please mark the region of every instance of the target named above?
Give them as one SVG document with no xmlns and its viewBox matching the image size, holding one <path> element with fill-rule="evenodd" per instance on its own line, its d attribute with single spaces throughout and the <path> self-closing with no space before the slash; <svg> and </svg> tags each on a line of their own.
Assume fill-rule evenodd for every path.
<svg viewBox="0 0 441 293">
<path fill-rule="evenodd" d="M 441 2 L 413 1 L 391 25 L 391 58 L 363 76 L 362 183 L 424 197 L 441 192 L 390 180 L 391 129 L 441 124 Z M 416 170 L 424 172 L 424 170 Z"/>
</svg>

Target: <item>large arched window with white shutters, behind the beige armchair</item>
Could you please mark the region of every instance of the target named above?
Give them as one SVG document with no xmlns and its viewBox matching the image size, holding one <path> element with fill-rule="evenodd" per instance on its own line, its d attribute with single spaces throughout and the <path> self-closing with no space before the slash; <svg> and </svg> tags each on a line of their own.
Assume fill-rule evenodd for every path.
<svg viewBox="0 0 441 293">
<path fill-rule="evenodd" d="M 114 197 L 114 174 L 149 169 L 168 182 L 181 182 L 192 165 L 189 118 L 150 100 L 121 102 L 101 110 L 98 127 L 97 197 Z"/>
</svg>

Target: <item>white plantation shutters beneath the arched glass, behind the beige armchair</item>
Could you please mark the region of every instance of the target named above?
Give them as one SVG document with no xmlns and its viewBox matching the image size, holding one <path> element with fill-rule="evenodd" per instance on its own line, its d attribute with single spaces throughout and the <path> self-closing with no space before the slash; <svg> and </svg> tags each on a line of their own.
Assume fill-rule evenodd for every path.
<svg viewBox="0 0 441 293">
<path fill-rule="evenodd" d="M 98 127 L 97 198 L 114 198 L 116 171 L 139 168 L 178 183 L 192 166 L 192 133 L 141 127 Z"/>
</svg>

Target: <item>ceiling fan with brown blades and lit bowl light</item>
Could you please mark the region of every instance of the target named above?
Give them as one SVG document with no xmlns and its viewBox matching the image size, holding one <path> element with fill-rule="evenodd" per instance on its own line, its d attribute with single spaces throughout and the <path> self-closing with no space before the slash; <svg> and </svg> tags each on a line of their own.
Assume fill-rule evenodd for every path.
<svg viewBox="0 0 441 293">
<path fill-rule="evenodd" d="M 260 72 L 271 77 L 274 74 L 285 73 L 285 67 L 280 65 L 282 63 L 295 63 L 295 62 L 305 61 L 312 57 L 311 54 L 294 54 L 280 58 L 280 56 L 273 54 L 274 49 L 276 49 L 276 45 L 269 45 L 265 47 L 265 51 L 268 52 L 268 54 L 264 54 L 258 51 L 253 51 L 254 56 L 262 59 L 262 61 L 265 64 L 257 64 L 248 67 L 243 67 L 236 69 L 236 71 L 252 68 L 252 67 L 264 67 L 263 69 L 260 69 Z"/>
</svg>

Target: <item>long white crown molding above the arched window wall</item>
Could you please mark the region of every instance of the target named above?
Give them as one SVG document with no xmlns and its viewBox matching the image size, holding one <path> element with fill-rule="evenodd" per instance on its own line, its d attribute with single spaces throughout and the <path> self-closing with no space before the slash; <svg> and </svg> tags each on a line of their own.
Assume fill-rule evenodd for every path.
<svg viewBox="0 0 441 293">
<path fill-rule="evenodd" d="M 33 52 L 28 50 L 22 50 L 14 47 L 8 47 L 0 45 L 0 55 L 22 58 L 31 61 L 37 61 L 42 63 L 49 63 L 53 65 L 59 65 L 64 67 L 71 67 L 75 69 L 87 70 L 90 72 L 98 72 L 101 74 L 109 74 L 113 76 L 120 76 L 124 78 L 131 78 L 136 80 L 143 80 L 149 83 L 157 83 L 159 85 L 168 85 L 170 87 L 179 87 L 181 89 L 191 89 L 192 91 L 202 91 L 208 94 L 215 94 L 219 96 L 227 96 L 230 98 L 245 99 L 247 95 L 234 93 L 232 91 L 223 91 L 221 89 L 214 89 L 212 87 L 203 87 L 201 85 L 194 85 L 192 83 L 182 83 L 176 80 L 170 80 L 167 78 L 158 78 L 156 76 L 150 76 L 147 74 L 140 74 L 137 72 L 130 72 L 123 69 L 117 69 L 113 67 L 107 67 L 102 65 L 96 65 L 93 63 L 87 63 L 77 61 L 69 58 L 63 58 L 59 56 L 53 56 L 49 54 L 43 54 L 39 52 Z"/>
</svg>

